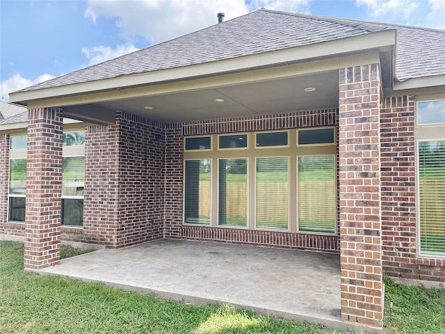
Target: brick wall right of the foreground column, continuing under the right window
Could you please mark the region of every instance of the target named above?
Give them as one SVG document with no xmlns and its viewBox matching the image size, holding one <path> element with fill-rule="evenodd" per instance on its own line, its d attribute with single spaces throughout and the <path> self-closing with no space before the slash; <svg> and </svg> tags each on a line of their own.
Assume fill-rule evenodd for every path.
<svg viewBox="0 0 445 334">
<path fill-rule="evenodd" d="M 396 278 L 445 282 L 445 260 L 416 255 L 414 96 L 386 97 L 380 111 L 382 266 Z"/>
</svg>

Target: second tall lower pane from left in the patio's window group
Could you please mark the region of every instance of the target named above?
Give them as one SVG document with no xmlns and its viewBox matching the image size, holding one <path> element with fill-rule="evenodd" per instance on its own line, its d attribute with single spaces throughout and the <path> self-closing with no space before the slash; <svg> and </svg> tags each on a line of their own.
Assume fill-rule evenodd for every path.
<svg viewBox="0 0 445 334">
<path fill-rule="evenodd" d="M 220 159 L 218 177 L 218 224 L 248 224 L 248 159 Z"/>
</svg>

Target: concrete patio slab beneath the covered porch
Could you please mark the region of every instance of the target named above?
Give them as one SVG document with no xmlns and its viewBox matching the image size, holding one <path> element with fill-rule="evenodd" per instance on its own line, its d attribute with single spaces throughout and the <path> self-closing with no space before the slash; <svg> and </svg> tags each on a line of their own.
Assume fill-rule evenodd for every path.
<svg viewBox="0 0 445 334">
<path fill-rule="evenodd" d="M 348 327 L 340 317 L 340 263 L 334 254 L 162 239 L 96 250 L 38 272 Z"/>
</svg>

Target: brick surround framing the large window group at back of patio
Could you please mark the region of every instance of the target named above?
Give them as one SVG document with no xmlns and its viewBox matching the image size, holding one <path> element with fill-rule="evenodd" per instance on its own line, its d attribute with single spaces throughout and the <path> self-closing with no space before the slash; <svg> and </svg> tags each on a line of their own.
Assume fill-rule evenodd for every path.
<svg viewBox="0 0 445 334">
<path fill-rule="evenodd" d="M 254 231 L 183 225 L 184 136 L 294 129 L 337 125 L 337 109 L 301 111 L 276 115 L 222 118 L 168 125 L 165 142 L 165 227 L 166 238 L 225 241 L 236 244 L 275 246 L 339 252 L 339 237 L 270 231 Z"/>
</svg>

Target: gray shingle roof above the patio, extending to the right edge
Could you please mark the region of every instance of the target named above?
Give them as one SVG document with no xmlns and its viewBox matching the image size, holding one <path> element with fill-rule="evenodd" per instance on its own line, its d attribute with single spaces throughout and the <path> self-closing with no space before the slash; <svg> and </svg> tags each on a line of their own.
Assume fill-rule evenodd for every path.
<svg viewBox="0 0 445 334">
<path fill-rule="evenodd" d="M 396 78 L 445 74 L 445 31 L 261 9 L 26 90 L 165 70 L 397 29 Z"/>
</svg>

